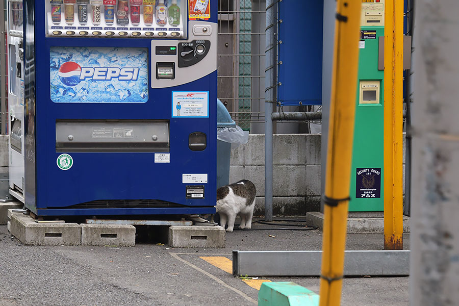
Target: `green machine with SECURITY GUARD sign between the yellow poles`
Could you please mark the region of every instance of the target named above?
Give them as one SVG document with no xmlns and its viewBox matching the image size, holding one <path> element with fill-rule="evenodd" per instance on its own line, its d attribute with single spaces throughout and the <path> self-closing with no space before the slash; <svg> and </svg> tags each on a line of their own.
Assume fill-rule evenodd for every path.
<svg viewBox="0 0 459 306">
<path fill-rule="evenodd" d="M 349 211 L 384 210 L 385 0 L 362 0 Z"/>
</svg>

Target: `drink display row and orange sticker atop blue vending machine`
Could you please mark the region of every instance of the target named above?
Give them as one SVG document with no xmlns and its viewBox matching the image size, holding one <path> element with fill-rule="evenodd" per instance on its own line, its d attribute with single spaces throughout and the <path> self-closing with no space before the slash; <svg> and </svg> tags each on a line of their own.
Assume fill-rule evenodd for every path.
<svg viewBox="0 0 459 306">
<path fill-rule="evenodd" d="M 198 16 L 209 0 L 45 0 L 45 5 L 48 37 L 187 38 L 188 7 Z"/>
</svg>

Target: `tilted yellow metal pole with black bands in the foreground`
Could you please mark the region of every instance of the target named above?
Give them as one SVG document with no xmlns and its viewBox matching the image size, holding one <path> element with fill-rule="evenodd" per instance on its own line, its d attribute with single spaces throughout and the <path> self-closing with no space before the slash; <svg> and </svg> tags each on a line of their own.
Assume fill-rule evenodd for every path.
<svg viewBox="0 0 459 306">
<path fill-rule="evenodd" d="M 325 176 L 320 305 L 339 305 L 346 246 L 361 0 L 338 0 Z"/>
</svg>

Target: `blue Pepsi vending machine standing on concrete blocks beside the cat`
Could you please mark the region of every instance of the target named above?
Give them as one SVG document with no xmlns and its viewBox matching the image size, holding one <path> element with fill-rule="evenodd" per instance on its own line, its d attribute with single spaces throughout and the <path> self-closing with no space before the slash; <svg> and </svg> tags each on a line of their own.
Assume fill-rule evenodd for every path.
<svg viewBox="0 0 459 306">
<path fill-rule="evenodd" d="M 25 207 L 215 213 L 217 0 L 23 9 Z"/>
</svg>

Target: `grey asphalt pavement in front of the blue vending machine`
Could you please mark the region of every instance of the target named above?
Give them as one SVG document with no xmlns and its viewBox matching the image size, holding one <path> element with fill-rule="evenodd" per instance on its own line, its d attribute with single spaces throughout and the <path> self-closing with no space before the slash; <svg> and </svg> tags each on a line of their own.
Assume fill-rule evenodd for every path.
<svg viewBox="0 0 459 306">
<path fill-rule="evenodd" d="M 274 230 L 226 233 L 223 249 L 171 248 L 150 241 L 135 247 L 24 246 L 0 225 L 0 306 L 17 305 L 256 305 L 258 290 L 202 258 L 232 259 L 233 250 L 320 250 L 322 232 Z M 268 228 L 267 230 L 260 230 Z M 409 249 L 409 235 L 403 236 Z M 349 234 L 348 250 L 383 249 L 382 234 Z M 319 293 L 316 277 L 292 281 Z M 408 277 L 343 281 L 342 305 L 408 305 Z"/>
</svg>

